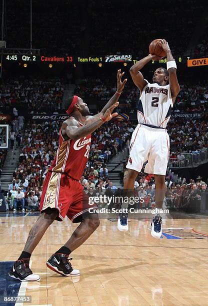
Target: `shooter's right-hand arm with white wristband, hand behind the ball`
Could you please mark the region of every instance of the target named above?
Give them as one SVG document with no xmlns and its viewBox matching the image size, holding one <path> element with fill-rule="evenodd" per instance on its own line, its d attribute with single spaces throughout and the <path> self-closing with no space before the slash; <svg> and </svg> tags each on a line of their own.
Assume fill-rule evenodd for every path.
<svg viewBox="0 0 208 306">
<path fill-rule="evenodd" d="M 174 58 L 170 51 L 168 42 L 165 39 L 160 39 L 159 44 L 162 46 L 163 50 L 166 52 L 167 62 L 174 61 Z M 177 81 L 176 68 L 171 67 L 168 69 L 168 72 L 169 72 L 168 80 L 169 80 L 169 86 L 170 86 L 170 91 L 171 91 L 171 96 L 172 96 L 172 102 L 174 103 L 175 98 L 180 91 L 180 85 L 178 84 L 178 81 Z"/>
</svg>

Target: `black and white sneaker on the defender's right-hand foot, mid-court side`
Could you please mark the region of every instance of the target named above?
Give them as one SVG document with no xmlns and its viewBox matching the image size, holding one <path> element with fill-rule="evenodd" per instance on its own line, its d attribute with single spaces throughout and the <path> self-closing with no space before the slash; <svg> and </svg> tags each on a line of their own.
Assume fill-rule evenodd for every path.
<svg viewBox="0 0 208 306">
<path fill-rule="evenodd" d="M 79 270 L 73 269 L 66 254 L 53 254 L 47 260 L 46 265 L 49 269 L 64 276 L 78 276 Z"/>
</svg>

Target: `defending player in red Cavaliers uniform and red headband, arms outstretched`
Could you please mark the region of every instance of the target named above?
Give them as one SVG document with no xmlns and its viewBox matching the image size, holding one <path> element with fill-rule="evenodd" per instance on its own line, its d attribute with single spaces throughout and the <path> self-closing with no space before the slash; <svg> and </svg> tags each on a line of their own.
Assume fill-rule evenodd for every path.
<svg viewBox="0 0 208 306">
<path fill-rule="evenodd" d="M 124 73 L 124 72 L 123 72 Z M 71 237 L 47 261 L 53 271 L 65 275 L 79 275 L 73 269 L 68 255 L 81 245 L 97 228 L 99 219 L 96 213 L 89 213 L 88 196 L 79 182 L 88 160 L 90 134 L 104 122 L 112 119 L 112 113 L 127 79 L 121 81 L 123 73 L 117 71 L 117 91 L 110 98 L 101 112 L 90 116 L 87 104 L 78 96 L 67 101 L 66 112 L 69 118 L 60 128 L 59 147 L 56 157 L 45 177 L 40 199 L 40 216 L 29 231 L 24 249 L 14 262 L 9 276 L 21 281 L 39 281 L 39 275 L 29 268 L 32 251 L 40 241 L 48 226 L 54 221 L 62 221 L 65 215 L 74 223 L 80 222 Z M 94 206 L 95 207 L 95 206 Z"/>
</svg>

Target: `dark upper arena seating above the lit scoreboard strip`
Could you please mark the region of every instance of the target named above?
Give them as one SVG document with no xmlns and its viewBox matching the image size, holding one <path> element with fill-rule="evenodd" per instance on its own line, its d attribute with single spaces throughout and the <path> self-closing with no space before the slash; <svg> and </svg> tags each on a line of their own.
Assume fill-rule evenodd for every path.
<svg viewBox="0 0 208 306">
<path fill-rule="evenodd" d="M 29 18 L 28 23 L 24 21 L 29 9 L 29 2 L 6 3 L 8 47 L 29 47 Z M 202 10 L 201 0 L 189 0 L 185 6 L 182 0 L 174 6 L 171 0 L 166 0 L 165 5 L 162 0 L 139 5 L 129 0 L 128 9 L 125 1 L 118 0 L 44 3 L 33 0 L 32 47 L 48 55 L 79 53 L 79 56 L 85 50 L 96 56 L 121 53 L 143 56 L 150 41 L 161 37 L 167 39 L 173 54 L 181 55 L 187 50 Z M 27 45 L 24 37 L 28 37 Z"/>
</svg>

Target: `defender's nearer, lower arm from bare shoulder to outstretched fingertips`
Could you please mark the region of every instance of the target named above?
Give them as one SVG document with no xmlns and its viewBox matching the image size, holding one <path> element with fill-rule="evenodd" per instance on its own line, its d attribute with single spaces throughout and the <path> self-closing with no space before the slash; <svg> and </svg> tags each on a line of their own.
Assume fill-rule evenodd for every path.
<svg viewBox="0 0 208 306">
<path fill-rule="evenodd" d="M 104 122 L 111 120 L 117 116 L 117 112 L 112 113 L 113 109 L 117 107 L 119 102 L 116 102 L 109 107 L 103 116 L 96 117 L 92 122 L 86 123 L 84 126 L 79 127 L 76 120 L 68 118 L 62 123 L 62 135 L 65 138 L 80 139 L 92 133 L 97 127 L 102 125 Z"/>
</svg>

